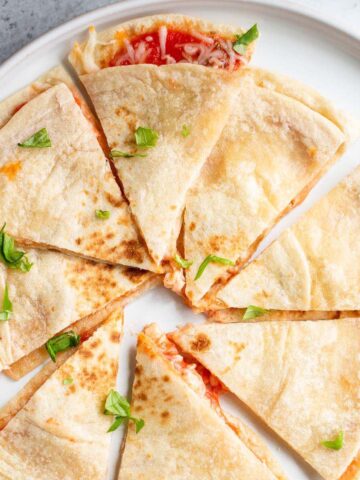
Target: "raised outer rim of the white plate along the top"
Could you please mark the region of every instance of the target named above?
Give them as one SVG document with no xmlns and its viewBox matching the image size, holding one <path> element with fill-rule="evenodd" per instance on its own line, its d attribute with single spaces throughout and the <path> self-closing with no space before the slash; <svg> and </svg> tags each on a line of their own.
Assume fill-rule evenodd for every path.
<svg viewBox="0 0 360 480">
<path fill-rule="evenodd" d="M 163 7 L 165 11 L 166 8 L 173 8 L 174 5 L 181 7 L 195 5 L 206 8 L 206 6 L 219 5 L 219 2 L 218 0 L 124 0 L 91 10 L 50 29 L 48 32 L 40 35 L 13 53 L 0 65 L 0 81 L 28 55 L 34 54 L 34 52 L 43 45 L 61 40 L 61 37 L 66 36 L 67 33 L 75 32 L 76 30 L 80 31 L 81 29 L 85 30 L 88 25 L 105 20 L 106 17 L 117 15 L 121 12 L 128 13 L 129 15 L 133 13 L 136 14 L 139 7 L 146 7 L 146 10 Z M 283 0 L 223 0 L 221 6 L 224 7 L 226 5 L 241 5 L 243 7 L 248 5 L 252 10 L 265 9 L 270 12 L 270 14 L 278 13 L 289 18 L 299 17 L 303 22 L 313 23 L 317 27 L 320 27 L 322 33 L 327 31 L 332 33 L 337 39 L 341 38 L 355 51 L 355 57 L 360 60 L 360 33 L 357 35 L 355 32 L 348 31 L 345 22 L 339 23 L 332 15 L 325 12 L 320 13 L 307 5 L 294 3 L 287 3 L 285 5 Z M 144 11 L 144 14 L 141 16 L 146 16 L 147 14 L 148 12 Z M 354 55 L 353 52 L 352 54 Z"/>
</svg>

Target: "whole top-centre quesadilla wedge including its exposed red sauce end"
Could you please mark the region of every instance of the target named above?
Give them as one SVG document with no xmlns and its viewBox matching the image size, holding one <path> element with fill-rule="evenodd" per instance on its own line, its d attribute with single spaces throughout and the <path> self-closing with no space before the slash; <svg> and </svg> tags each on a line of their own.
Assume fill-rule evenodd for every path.
<svg viewBox="0 0 360 480">
<path fill-rule="evenodd" d="M 223 70 L 247 63 L 257 36 L 256 25 L 244 33 L 183 15 L 156 15 L 100 34 L 91 27 L 89 39 L 70 54 L 157 263 L 175 254 L 186 192 L 238 89 L 237 75 Z M 138 142 L 139 128 L 154 141 Z"/>
</svg>

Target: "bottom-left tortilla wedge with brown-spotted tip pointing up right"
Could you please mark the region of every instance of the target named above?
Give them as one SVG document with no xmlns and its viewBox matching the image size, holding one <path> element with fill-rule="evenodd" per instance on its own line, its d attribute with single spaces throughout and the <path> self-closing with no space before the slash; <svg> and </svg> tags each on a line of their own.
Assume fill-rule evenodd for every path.
<svg viewBox="0 0 360 480">
<path fill-rule="evenodd" d="M 112 419 L 104 402 L 116 383 L 121 331 L 118 317 L 109 318 L 0 432 L 1 478 L 105 478 Z"/>
</svg>

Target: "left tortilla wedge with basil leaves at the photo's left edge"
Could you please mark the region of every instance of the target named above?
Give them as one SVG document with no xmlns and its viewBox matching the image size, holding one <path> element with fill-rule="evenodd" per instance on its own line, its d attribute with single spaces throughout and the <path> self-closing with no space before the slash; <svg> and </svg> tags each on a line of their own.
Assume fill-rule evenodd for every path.
<svg viewBox="0 0 360 480">
<path fill-rule="evenodd" d="M 89 325 L 95 312 L 115 301 L 125 302 L 151 285 L 155 277 L 150 272 L 58 252 L 30 250 L 27 255 L 33 262 L 28 273 L 0 264 L 0 298 L 8 285 L 13 304 L 10 319 L 0 322 L 0 370 L 42 347 L 74 322 L 85 317 L 84 324 Z M 27 372 L 28 368 L 22 373 Z"/>
</svg>

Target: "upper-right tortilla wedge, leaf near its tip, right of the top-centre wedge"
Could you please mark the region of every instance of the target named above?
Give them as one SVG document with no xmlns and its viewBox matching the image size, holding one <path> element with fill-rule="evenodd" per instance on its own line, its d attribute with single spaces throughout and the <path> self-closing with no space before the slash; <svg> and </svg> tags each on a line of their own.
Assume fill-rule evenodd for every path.
<svg viewBox="0 0 360 480">
<path fill-rule="evenodd" d="M 184 256 L 193 263 L 186 270 L 185 292 L 193 305 L 203 303 L 205 309 L 208 302 L 202 297 L 245 264 L 347 140 L 340 113 L 338 127 L 315 108 L 263 86 L 267 72 L 254 70 L 246 70 L 236 106 L 186 200 Z M 211 254 L 233 261 L 235 270 L 211 263 L 195 280 Z"/>
</svg>

